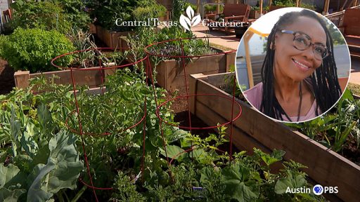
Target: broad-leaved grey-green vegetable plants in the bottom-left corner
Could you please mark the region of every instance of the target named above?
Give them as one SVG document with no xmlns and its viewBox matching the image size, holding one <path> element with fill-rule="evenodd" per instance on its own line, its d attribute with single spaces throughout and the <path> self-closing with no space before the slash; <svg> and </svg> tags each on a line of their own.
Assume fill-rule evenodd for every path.
<svg viewBox="0 0 360 202">
<path fill-rule="evenodd" d="M 75 189 L 83 169 L 77 138 L 58 127 L 38 98 L 30 90 L 1 97 L 0 170 L 7 173 L 0 175 L 1 201 L 47 201 L 60 189 Z"/>
</svg>

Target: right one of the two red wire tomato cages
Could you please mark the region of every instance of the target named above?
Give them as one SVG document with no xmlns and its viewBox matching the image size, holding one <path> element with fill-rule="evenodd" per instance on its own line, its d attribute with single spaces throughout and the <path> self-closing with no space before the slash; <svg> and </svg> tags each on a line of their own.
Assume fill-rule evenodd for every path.
<svg viewBox="0 0 360 202">
<path fill-rule="evenodd" d="M 162 138 L 164 140 L 164 131 L 162 130 L 162 123 L 165 123 L 165 124 L 168 124 L 170 126 L 176 126 L 176 124 L 174 123 L 168 123 L 167 121 L 164 121 L 162 119 L 162 116 L 160 114 L 160 109 L 163 105 L 166 105 L 168 102 L 174 102 L 176 100 L 181 100 L 181 99 L 184 99 L 186 100 L 186 105 L 187 105 L 187 109 L 186 111 L 188 112 L 188 125 L 187 126 L 177 126 L 181 129 L 184 129 L 184 130 L 189 130 L 190 133 L 192 133 L 193 130 L 207 130 L 207 129 L 216 129 L 216 128 L 219 128 L 221 126 L 230 126 L 230 135 L 229 135 L 229 139 L 230 139 L 230 148 L 229 148 L 229 158 L 231 159 L 232 158 L 232 147 L 233 147 L 233 144 L 232 144 L 232 127 L 233 127 L 233 121 L 236 121 L 240 115 L 241 115 L 241 106 L 238 102 L 235 102 L 235 90 L 236 90 L 236 78 L 233 77 L 233 95 L 232 97 L 226 97 L 226 96 L 223 96 L 223 95 L 217 95 L 217 94 L 213 94 L 213 93 L 204 93 L 204 94 L 190 94 L 189 93 L 189 83 L 188 83 L 188 75 L 189 73 L 186 72 L 187 68 L 186 68 L 186 60 L 190 60 L 190 62 L 192 62 L 192 60 L 195 60 L 195 59 L 198 59 L 198 58 L 202 58 L 202 57 L 206 57 L 206 56 L 213 56 L 213 55 L 226 55 L 226 54 L 229 54 L 229 53 L 234 53 L 236 52 L 236 50 L 229 50 L 229 51 L 225 51 L 225 52 L 221 52 L 221 53 L 213 53 L 213 54 L 207 54 L 207 55 L 185 55 L 185 51 L 184 51 L 184 41 L 188 42 L 188 43 L 191 43 L 191 41 L 195 41 L 195 40 L 204 40 L 204 41 L 208 41 L 209 38 L 217 38 L 217 37 L 198 37 L 198 38 L 185 38 L 185 39 L 170 39 L 170 40 L 167 40 L 167 41 L 160 41 L 160 42 L 157 42 L 157 43 L 153 43 L 153 44 L 150 44 L 149 46 L 146 46 L 145 48 L 145 52 L 146 52 L 146 55 L 147 55 L 147 66 L 148 66 L 148 69 L 150 69 L 150 71 L 148 71 L 150 73 L 150 79 L 151 79 L 151 83 L 153 85 L 153 88 L 155 89 L 155 81 L 154 81 L 154 76 L 153 76 L 153 69 L 155 69 L 155 67 L 153 68 L 152 67 L 152 58 L 155 59 L 155 58 L 172 58 L 172 59 L 176 59 L 176 60 L 179 60 L 179 64 L 180 64 L 180 69 L 176 69 L 176 72 L 178 71 L 184 71 L 184 80 L 183 80 L 183 86 L 185 86 L 185 91 L 186 91 L 186 95 L 184 96 L 177 96 L 177 97 L 174 97 L 172 99 L 169 99 L 169 100 L 166 100 L 165 102 L 162 102 L 158 105 L 158 101 L 157 101 L 157 97 L 156 97 L 156 94 L 155 95 L 155 102 L 157 103 L 157 109 L 156 109 L 156 116 L 158 116 L 158 119 L 160 119 L 160 130 L 161 130 L 161 133 L 162 133 Z M 206 42 L 205 42 L 206 43 Z M 158 46 L 162 46 L 162 48 L 168 48 L 168 47 L 171 47 L 171 46 L 177 46 L 178 48 L 178 54 L 176 55 L 166 55 L 166 54 L 163 54 L 163 53 L 158 53 L 156 52 L 156 50 L 158 50 Z M 155 50 L 155 51 L 153 51 Z M 175 52 L 176 52 L 176 48 L 175 48 Z M 189 62 L 189 61 L 187 61 Z M 156 65 L 156 64 L 155 64 Z M 188 69 L 188 70 L 191 70 L 191 71 L 188 71 L 188 72 L 196 72 L 196 69 Z M 191 106 L 190 106 L 190 100 L 191 99 L 196 99 L 196 97 L 207 97 L 209 99 L 211 99 L 211 97 L 221 97 L 222 99 L 224 100 L 227 100 L 229 101 L 229 105 L 231 105 L 231 117 L 229 117 L 229 120 L 230 121 L 227 121 L 226 123 L 219 123 L 219 125 L 217 126 L 208 126 L 208 127 L 195 127 L 192 125 L 192 122 L 191 122 Z M 195 106 L 193 106 L 195 108 Z M 234 107 L 236 107 L 236 110 L 234 110 Z M 236 111 L 238 112 L 237 114 L 234 114 L 233 112 Z M 165 152 L 166 152 L 166 145 L 164 144 L 164 147 L 165 147 Z M 191 152 L 193 151 L 193 145 L 191 144 L 191 149 L 188 149 L 186 150 L 186 152 Z M 218 149 L 219 152 L 224 152 L 224 151 L 221 151 Z M 184 152 L 182 152 L 184 153 Z M 167 153 L 166 153 L 167 154 Z M 180 154 L 177 154 L 176 156 L 179 156 Z M 173 161 L 174 158 L 171 160 Z M 167 162 L 168 163 L 171 163 L 171 161 L 169 161 L 169 159 L 167 158 Z"/>
</svg>

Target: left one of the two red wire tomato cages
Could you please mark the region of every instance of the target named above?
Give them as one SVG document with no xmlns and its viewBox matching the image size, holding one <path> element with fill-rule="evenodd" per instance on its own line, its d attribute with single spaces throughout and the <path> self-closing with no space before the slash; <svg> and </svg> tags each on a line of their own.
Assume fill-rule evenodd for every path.
<svg viewBox="0 0 360 202">
<path fill-rule="evenodd" d="M 73 88 L 73 95 L 75 96 L 75 109 L 70 112 L 70 114 L 68 114 L 68 117 L 65 121 L 65 125 L 68 127 L 68 130 L 70 130 L 72 133 L 75 133 L 77 135 L 80 135 L 81 140 L 82 140 L 82 149 L 84 152 L 84 160 L 85 160 L 85 164 L 86 164 L 86 170 L 87 170 L 87 175 L 89 177 L 89 184 L 84 182 L 84 180 L 80 179 L 80 181 L 86 186 L 89 187 L 91 189 L 93 189 L 93 193 L 94 193 L 94 197 L 96 198 L 96 201 L 98 201 L 98 197 L 96 195 L 96 190 L 110 190 L 113 189 L 112 187 L 95 187 L 94 186 L 94 182 L 93 182 L 93 177 L 91 175 L 91 170 L 89 168 L 89 159 L 88 156 L 86 155 L 86 149 L 85 149 L 85 140 L 84 140 L 84 136 L 89 135 L 89 136 L 94 136 L 94 137 L 107 137 L 110 135 L 113 135 L 112 133 L 110 133 L 109 131 L 102 131 L 102 133 L 93 133 L 91 131 L 84 131 L 84 128 L 86 128 L 86 126 L 84 125 L 84 123 L 82 122 L 83 119 L 89 119 L 89 117 L 82 117 L 80 114 L 82 114 L 82 106 L 79 104 L 79 97 L 77 96 L 77 94 L 79 93 L 79 90 L 77 88 L 77 79 L 74 76 L 74 72 L 76 71 L 96 71 L 98 72 L 98 74 L 100 74 L 101 77 L 101 83 L 100 83 L 100 87 L 96 88 L 96 89 L 90 89 L 88 90 L 89 95 L 93 94 L 93 93 L 98 93 L 99 95 L 97 96 L 101 96 L 101 99 L 105 100 L 109 97 L 106 97 L 108 94 L 108 89 L 105 88 L 105 74 L 113 74 L 116 72 L 116 69 L 124 69 L 126 67 L 134 67 L 137 66 L 139 63 L 143 62 L 144 60 L 146 60 L 146 58 L 143 58 L 141 60 L 138 61 L 134 61 L 134 62 L 125 62 L 124 65 L 120 64 L 120 65 L 110 65 L 110 64 L 104 64 L 104 62 L 101 60 L 101 58 L 98 59 L 98 67 L 91 67 L 91 68 L 83 68 L 83 67 L 62 67 L 60 65 L 56 65 L 56 61 L 60 60 L 63 57 L 72 57 L 73 55 L 79 55 L 82 53 L 86 53 L 89 51 L 94 51 L 96 54 L 98 55 L 103 55 L 105 53 L 109 53 L 109 51 L 115 51 L 115 52 L 121 52 L 124 53 L 126 50 L 124 50 L 124 48 L 122 49 L 118 49 L 118 48 L 91 48 L 91 49 L 86 49 L 86 50 L 77 50 L 75 52 L 71 52 L 71 53 L 65 53 L 63 55 L 59 55 L 58 57 L 54 58 L 51 61 L 51 64 L 55 67 L 58 67 L 59 69 L 69 69 L 70 70 L 70 76 L 71 76 L 71 81 L 72 81 L 72 88 Z M 136 126 L 139 126 L 141 123 L 143 123 L 143 140 L 145 141 L 145 135 L 146 135 L 146 130 L 145 130 L 145 123 L 146 121 L 144 121 L 146 119 L 146 97 L 145 100 L 141 103 L 141 106 L 139 107 L 139 114 L 138 114 L 138 119 L 135 119 L 134 122 L 129 121 L 128 125 L 125 125 L 124 128 L 122 128 L 120 131 L 117 131 L 118 133 L 127 133 L 127 130 L 131 129 L 131 128 L 135 128 Z M 98 105 L 93 105 L 92 107 L 94 107 L 94 109 L 96 109 L 96 107 L 99 107 Z M 108 112 L 111 113 L 111 110 Z M 108 114 L 105 113 L 105 114 Z M 72 116 L 76 114 L 76 116 Z M 77 128 L 72 128 L 70 122 L 73 121 L 72 118 L 76 118 L 77 119 Z M 124 120 L 113 120 L 114 122 L 124 122 Z M 74 123 L 74 122 L 72 122 Z M 143 154 L 145 152 L 145 147 L 143 147 Z M 143 158 L 142 157 L 142 166 L 141 166 L 141 170 L 143 172 Z"/>
</svg>

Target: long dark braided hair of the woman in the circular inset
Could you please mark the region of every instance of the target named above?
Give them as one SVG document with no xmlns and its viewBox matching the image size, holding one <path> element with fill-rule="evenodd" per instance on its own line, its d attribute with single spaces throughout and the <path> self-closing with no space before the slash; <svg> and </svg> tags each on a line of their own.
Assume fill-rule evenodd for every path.
<svg viewBox="0 0 360 202">
<path fill-rule="evenodd" d="M 333 51 L 333 39 L 326 27 L 326 22 L 319 17 L 313 11 L 302 10 L 285 13 L 282 15 L 278 22 L 271 29 L 271 33 L 268 36 L 266 45 L 266 56 L 264 63 L 262 64 L 262 104 L 260 111 L 270 116 L 271 118 L 283 121 L 283 114 L 288 117 L 275 96 L 274 90 L 274 55 L 275 50 L 273 47 L 275 44 L 275 34 L 283 29 L 284 25 L 293 23 L 297 18 L 305 16 L 317 20 L 321 27 L 323 27 L 326 33 L 326 46 L 331 51 L 328 57 L 323 59 L 323 62 L 316 71 L 309 76 L 314 89 L 314 95 L 316 99 L 316 116 L 319 116 L 318 109 L 321 112 L 326 112 L 330 107 L 333 107 L 335 102 L 338 101 L 341 95 L 341 88 L 338 81 L 337 67 L 334 59 Z"/>
</svg>

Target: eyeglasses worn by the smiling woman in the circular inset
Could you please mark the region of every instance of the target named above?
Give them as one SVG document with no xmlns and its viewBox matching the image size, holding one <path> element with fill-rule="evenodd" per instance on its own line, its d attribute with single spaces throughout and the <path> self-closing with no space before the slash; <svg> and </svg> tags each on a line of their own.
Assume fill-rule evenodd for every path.
<svg viewBox="0 0 360 202">
<path fill-rule="evenodd" d="M 307 50 L 310 46 L 313 46 L 312 51 L 314 53 L 314 57 L 317 60 L 323 60 L 326 58 L 331 52 L 328 50 L 326 46 L 323 44 L 316 44 L 311 42 L 310 36 L 304 34 L 302 32 L 293 32 L 290 30 L 281 30 L 281 33 L 285 34 L 293 34 L 294 35 L 294 46 L 297 50 Z"/>
</svg>

